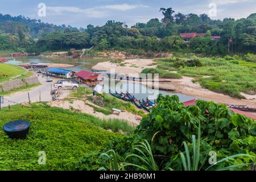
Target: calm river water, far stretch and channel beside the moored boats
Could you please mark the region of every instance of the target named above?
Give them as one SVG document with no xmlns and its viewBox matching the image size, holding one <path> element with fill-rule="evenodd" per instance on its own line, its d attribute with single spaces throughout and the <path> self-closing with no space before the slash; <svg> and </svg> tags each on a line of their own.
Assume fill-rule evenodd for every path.
<svg viewBox="0 0 256 182">
<path fill-rule="evenodd" d="M 11 58 L 9 57 L 11 60 Z M 47 57 L 39 57 L 39 56 L 24 56 L 24 57 L 15 57 L 16 61 L 22 61 L 23 63 L 62 63 L 62 64 L 71 64 L 73 67 L 68 67 L 64 69 L 71 69 L 73 71 L 91 71 L 92 67 L 97 63 L 101 63 L 103 61 L 108 61 L 109 59 L 72 59 L 72 58 L 47 58 Z M 104 90 L 108 92 L 108 90 L 116 90 L 117 92 L 129 91 L 129 93 L 133 94 L 138 100 L 146 99 L 147 97 L 150 100 L 155 100 L 158 94 L 166 95 L 176 95 L 180 98 L 181 102 L 193 100 L 194 97 L 186 96 L 184 94 L 179 94 L 175 92 L 168 92 L 158 89 L 151 89 L 147 86 L 136 84 L 134 82 L 126 82 L 126 81 L 104 81 Z"/>
</svg>

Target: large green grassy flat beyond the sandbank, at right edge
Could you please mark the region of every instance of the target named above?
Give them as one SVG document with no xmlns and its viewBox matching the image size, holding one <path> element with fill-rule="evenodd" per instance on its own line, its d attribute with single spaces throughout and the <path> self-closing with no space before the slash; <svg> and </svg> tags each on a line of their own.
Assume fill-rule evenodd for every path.
<svg viewBox="0 0 256 182">
<path fill-rule="evenodd" d="M 243 98 L 241 92 L 256 93 L 256 63 L 243 60 L 198 58 L 203 67 L 177 67 L 176 57 L 156 59 L 158 67 L 178 71 L 180 75 L 196 77 L 200 85 L 214 92 Z M 188 60 L 184 58 L 184 60 Z M 211 76 L 211 77 L 203 77 Z"/>
</svg>

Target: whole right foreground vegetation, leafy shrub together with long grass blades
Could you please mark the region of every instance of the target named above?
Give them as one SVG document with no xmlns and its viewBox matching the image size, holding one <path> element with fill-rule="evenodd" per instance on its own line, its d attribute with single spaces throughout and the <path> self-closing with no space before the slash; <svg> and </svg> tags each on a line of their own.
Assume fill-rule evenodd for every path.
<svg viewBox="0 0 256 182">
<path fill-rule="evenodd" d="M 184 107 L 160 95 L 133 134 L 84 156 L 80 170 L 251 170 L 256 161 L 256 123 L 225 105 L 198 100 Z M 215 152 L 215 165 L 208 161 Z M 108 156 L 108 157 L 105 157 Z M 212 156 L 212 155 L 211 155 Z"/>
</svg>

